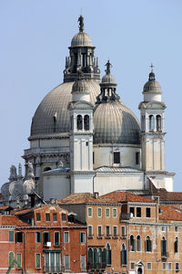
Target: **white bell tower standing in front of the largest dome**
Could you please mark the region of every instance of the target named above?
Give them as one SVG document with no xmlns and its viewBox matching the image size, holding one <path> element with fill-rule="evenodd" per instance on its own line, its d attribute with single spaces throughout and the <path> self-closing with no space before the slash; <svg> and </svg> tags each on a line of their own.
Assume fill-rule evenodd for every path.
<svg viewBox="0 0 182 274">
<path fill-rule="evenodd" d="M 93 110 L 85 79 L 75 81 L 70 113 L 71 193 L 93 192 Z"/>
</svg>

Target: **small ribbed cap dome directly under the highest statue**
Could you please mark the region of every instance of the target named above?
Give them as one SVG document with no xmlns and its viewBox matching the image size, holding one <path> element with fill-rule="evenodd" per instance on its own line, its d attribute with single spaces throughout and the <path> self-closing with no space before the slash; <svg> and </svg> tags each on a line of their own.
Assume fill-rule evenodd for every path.
<svg viewBox="0 0 182 274">
<path fill-rule="evenodd" d="M 71 47 L 93 47 L 93 42 L 86 32 L 78 32 L 72 38 Z"/>
</svg>

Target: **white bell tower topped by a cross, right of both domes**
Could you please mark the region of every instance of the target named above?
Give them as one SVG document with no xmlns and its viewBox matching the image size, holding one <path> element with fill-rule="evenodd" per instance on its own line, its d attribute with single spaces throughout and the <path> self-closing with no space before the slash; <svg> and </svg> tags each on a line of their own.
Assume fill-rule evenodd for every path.
<svg viewBox="0 0 182 274">
<path fill-rule="evenodd" d="M 161 88 L 151 65 L 144 86 L 144 100 L 138 109 L 141 113 L 142 168 L 145 171 L 165 171 L 165 109 Z"/>
</svg>

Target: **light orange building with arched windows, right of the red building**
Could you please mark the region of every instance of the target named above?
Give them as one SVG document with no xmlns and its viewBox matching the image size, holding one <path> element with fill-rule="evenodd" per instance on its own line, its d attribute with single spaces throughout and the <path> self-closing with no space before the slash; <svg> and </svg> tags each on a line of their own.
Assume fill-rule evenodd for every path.
<svg viewBox="0 0 182 274">
<path fill-rule="evenodd" d="M 87 223 L 89 273 L 182 269 L 182 211 L 129 192 L 68 195 L 59 205 Z"/>
</svg>

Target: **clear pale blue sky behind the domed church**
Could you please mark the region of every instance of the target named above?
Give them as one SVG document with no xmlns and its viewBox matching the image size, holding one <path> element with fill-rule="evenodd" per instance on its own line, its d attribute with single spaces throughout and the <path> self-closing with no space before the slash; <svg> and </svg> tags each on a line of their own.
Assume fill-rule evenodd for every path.
<svg viewBox="0 0 182 274">
<path fill-rule="evenodd" d="M 138 118 L 149 65 L 155 65 L 167 102 L 166 169 L 177 174 L 175 190 L 182 191 L 181 0 L 0 1 L 0 184 L 11 164 L 24 163 L 35 109 L 62 82 L 81 8 L 102 74 L 109 58 L 117 92 Z"/>
</svg>

